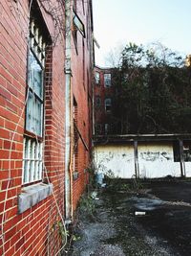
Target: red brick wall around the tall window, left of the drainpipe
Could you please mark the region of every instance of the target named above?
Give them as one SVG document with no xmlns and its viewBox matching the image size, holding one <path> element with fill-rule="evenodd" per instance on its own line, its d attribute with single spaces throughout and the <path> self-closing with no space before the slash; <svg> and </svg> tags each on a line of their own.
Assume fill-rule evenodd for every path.
<svg viewBox="0 0 191 256">
<path fill-rule="evenodd" d="M 52 3 L 55 7 L 56 1 Z M 49 55 L 47 61 L 47 66 L 53 69 L 45 82 L 45 166 L 64 215 L 64 37 L 60 34 L 54 41 L 58 31 L 54 30 L 53 17 L 43 8 L 42 13 L 55 43 L 53 56 Z M 22 191 L 28 35 L 29 2 L 22 1 L 21 5 L 20 1 L 1 1 L 0 228 L 5 236 L 0 239 L 0 255 L 8 256 L 47 255 L 48 250 L 50 255 L 55 255 L 60 247 L 60 216 L 53 196 L 18 214 L 17 198 Z"/>
</svg>

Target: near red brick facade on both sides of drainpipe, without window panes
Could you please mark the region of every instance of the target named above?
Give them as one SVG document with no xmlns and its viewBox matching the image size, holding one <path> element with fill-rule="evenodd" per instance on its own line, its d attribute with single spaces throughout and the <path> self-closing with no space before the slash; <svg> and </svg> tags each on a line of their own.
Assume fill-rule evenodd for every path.
<svg viewBox="0 0 191 256">
<path fill-rule="evenodd" d="M 63 244 L 60 229 L 65 215 L 65 7 L 64 1 L 0 3 L 0 255 L 57 255 Z M 92 2 L 76 1 L 84 38 L 72 37 L 72 95 L 77 109 L 77 167 L 71 151 L 73 209 L 88 182 L 92 113 Z M 47 36 L 44 77 L 44 131 L 36 138 L 26 129 L 30 19 L 38 19 Z M 72 123 L 73 119 L 71 120 Z M 74 124 L 72 125 L 72 138 Z M 23 184 L 24 136 L 43 144 L 43 176 Z M 74 141 L 72 139 L 72 141 Z M 72 145 L 74 146 L 74 145 Z M 77 169 L 77 170 L 75 170 Z M 76 171 L 76 172 L 74 172 Z M 75 175 L 77 174 L 77 175 Z M 36 198 L 35 188 L 40 187 Z M 53 186 L 53 191 L 52 191 Z M 32 189 L 32 191 L 30 190 Z M 29 192 L 30 191 L 30 192 Z M 34 194 L 33 194 L 34 191 Z M 25 192 L 25 193 L 24 193 Z M 30 207 L 23 210 L 23 198 Z M 32 196 L 33 195 L 33 196 Z M 23 197 L 23 198 L 22 198 Z M 31 197 L 31 198 L 30 198 Z M 40 198 L 41 197 L 41 198 Z M 20 208 L 19 208 L 20 207 Z M 24 203 L 24 207 L 26 203 Z M 61 223 L 61 224 L 60 224 Z"/>
</svg>

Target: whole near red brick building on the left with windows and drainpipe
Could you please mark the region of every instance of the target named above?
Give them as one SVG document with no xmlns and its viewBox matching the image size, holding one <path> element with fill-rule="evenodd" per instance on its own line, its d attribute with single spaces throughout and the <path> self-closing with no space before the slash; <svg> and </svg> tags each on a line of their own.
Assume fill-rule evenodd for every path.
<svg viewBox="0 0 191 256">
<path fill-rule="evenodd" d="M 0 255 L 57 255 L 88 182 L 92 1 L 0 13 Z"/>
</svg>

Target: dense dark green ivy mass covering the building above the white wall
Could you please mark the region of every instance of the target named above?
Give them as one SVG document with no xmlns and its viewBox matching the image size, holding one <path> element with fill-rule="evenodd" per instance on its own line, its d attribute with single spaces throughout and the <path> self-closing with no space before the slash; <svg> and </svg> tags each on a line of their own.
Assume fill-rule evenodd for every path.
<svg viewBox="0 0 191 256">
<path fill-rule="evenodd" d="M 128 44 L 113 69 L 117 133 L 187 133 L 191 69 L 176 52 Z M 116 132 L 115 131 L 115 132 Z"/>
</svg>

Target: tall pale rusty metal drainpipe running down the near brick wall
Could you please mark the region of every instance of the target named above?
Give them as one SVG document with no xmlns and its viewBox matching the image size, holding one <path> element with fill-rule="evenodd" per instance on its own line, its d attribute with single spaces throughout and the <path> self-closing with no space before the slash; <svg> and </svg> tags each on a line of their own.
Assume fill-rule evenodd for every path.
<svg viewBox="0 0 191 256">
<path fill-rule="evenodd" d="M 72 35 L 72 1 L 65 1 L 65 219 L 72 220 L 71 197 L 71 35 Z"/>
</svg>

